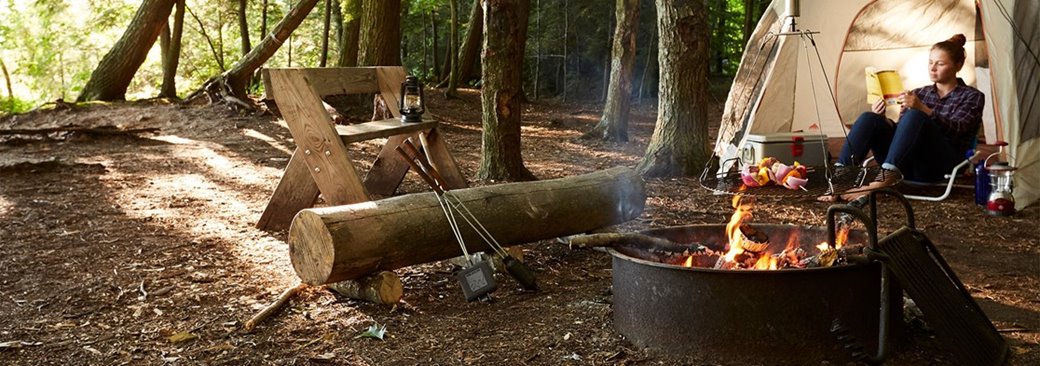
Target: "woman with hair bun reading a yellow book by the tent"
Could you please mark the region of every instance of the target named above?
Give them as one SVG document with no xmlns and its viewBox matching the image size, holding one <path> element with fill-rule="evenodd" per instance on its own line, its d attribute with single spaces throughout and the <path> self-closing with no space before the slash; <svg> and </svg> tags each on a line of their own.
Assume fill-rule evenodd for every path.
<svg viewBox="0 0 1040 366">
<path fill-rule="evenodd" d="M 939 180 L 964 160 L 982 125 L 985 104 L 981 92 L 957 77 L 964 66 L 965 42 L 963 34 L 957 34 L 932 46 L 928 63 L 934 84 L 903 94 L 900 121 L 884 116 L 884 100 L 856 120 L 836 165 L 860 164 L 870 151 L 881 173 L 866 189 L 850 190 L 842 199 L 854 200 L 904 177 Z"/>
</svg>

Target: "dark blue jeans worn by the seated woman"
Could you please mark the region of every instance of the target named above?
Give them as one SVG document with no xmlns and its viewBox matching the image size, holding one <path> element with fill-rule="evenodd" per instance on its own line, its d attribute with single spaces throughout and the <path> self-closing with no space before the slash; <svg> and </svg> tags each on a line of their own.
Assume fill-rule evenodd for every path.
<svg viewBox="0 0 1040 366">
<path fill-rule="evenodd" d="M 863 112 L 849 131 L 838 162 L 860 164 L 869 151 L 879 164 L 894 165 L 908 180 L 940 180 L 964 160 L 965 152 L 957 151 L 937 124 L 916 109 L 904 112 L 894 125 L 884 115 Z"/>
</svg>

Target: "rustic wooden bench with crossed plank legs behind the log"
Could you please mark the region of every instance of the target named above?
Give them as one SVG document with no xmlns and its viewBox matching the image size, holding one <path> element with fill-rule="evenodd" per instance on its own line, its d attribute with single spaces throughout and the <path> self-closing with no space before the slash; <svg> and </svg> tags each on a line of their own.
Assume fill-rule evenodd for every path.
<svg viewBox="0 0 1040 366">
<path fill-rule="evenodd" d="M 466 179 L 438 133 L 436 121 L 401 123 L 396 106 L 405 70 L 400 67 L 265 69 L 266 96 L 278 104 L 296 142 L 288 165 L 257 228 L 287 229 L 300 210 L 312 207 L 318 194 L 329 205 L 369 201 L 369 194 L 391 195 L 409 165 L 394 149 L 405 139 L 425 133 L 430 155 L 451 188 L 466 187 Z M 379 94 L 395 119 L 337 126 L 321 98 L 333 95 Z M 387 138 L 364 181 L 347 153 L 346 145 Z"/>
</svg>

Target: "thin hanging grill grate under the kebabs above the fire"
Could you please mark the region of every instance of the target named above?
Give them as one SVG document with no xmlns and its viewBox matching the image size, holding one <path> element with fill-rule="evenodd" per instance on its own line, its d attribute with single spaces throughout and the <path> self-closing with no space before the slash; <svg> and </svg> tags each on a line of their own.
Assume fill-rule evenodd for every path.
<svg viewBox="0 0 1040 366">
<path fill-rule="evenodd" d="M 746 194 L 746 195 L 759 195 L 759 197 L 820 197 L 831 193 L 831 185 L 834 187 L 834 191 L 837 193 L 842 193 L 851 189 L 860 187 L 863 183 L 869 183 L 878 173 L 881 167 L 877 165 L 859 167 L 859 166 L 840 166 L 832 167 L 830 184 L 828 184 L 827 172 L 823 168 L 816 167 L 809 171 L 809 182 L 806 183 L 805 189 L 787 189 L 783 186 L 776 184 L 771 184 L 762 187 L 747 188 L 740 190 L 744 186 L 744 182 L 740 180 L 739 172 L 730 172 L 725 175 L 711 175 L 708 171 L 705 171 L 704 175 L 701 176 L 700 183 L 701 186 L 712 190 L 717 193 L 723 194 Z M 712 169 L 713 171 L 713 169 Z"/>
</svg>

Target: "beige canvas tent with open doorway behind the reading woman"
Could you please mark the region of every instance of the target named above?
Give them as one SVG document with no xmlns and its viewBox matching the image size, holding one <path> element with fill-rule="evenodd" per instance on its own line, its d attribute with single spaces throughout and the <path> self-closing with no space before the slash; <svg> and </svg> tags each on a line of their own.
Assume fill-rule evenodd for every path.
<svg viewBox="0 0 1040 366">
<path fill-rule="evenodd" d="M 846 125 L 869 110 L 865 68 L 895 70 L 907 88 L 926 85 L 932 45 L 962 33 L 967 59 L 958 76 L 987 96 L 986 142 L 1009 142 L 1016 206 L 1040 198 L 1040 1 L 801 0 L 790 10 L 787 1 L 799 3 L 773 0 L 749 40 L 716 143 L 722 161 L 748 133 L 843 138 Z M 791 20 L 818 33 L 789 34 Z"/>
</svg>

